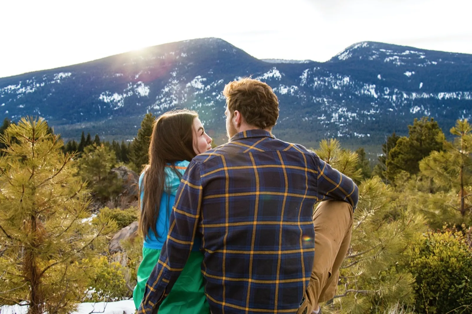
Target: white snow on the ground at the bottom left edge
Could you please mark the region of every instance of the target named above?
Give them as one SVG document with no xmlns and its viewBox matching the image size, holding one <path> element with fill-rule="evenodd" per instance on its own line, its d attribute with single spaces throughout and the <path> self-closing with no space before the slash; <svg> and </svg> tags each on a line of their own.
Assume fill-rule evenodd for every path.
<svg viewBox="0 0 472 314">
<path fill-rule="evenodd" d="M 26 306 L 1 306 L 1 314 L 26 314 L 28 311 Z M 99 302 L 99 303 L 81 303 L 77 311 L 73 314 L 134 314 L 136 311 L 133 300 L 122 300 L 116 302 Z"/>
</svg>

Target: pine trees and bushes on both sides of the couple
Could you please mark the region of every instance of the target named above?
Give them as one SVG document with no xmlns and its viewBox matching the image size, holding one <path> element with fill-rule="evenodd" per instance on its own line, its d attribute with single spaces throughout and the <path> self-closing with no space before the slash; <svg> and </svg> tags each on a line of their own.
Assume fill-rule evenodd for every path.
<svg viewBox="0 0 472 314">
<path fill-rule="evenodd" d="M 108 244 L 138 208 L 121 206 L 123 182 L 111 169 L 139 174 L 155 118 L 147 114 L 129 143 L 82 133 L 64 144 L 44 119 L 4 121 L 0 305 L 62 314 L 132 296 L 142 238 L 118 252 Z M 363 148 L 336 139 L 313 148 L 360 193 L 337 295 L 323 313 L 472 313 L 472 127 L 457 120 L 446 134 L 423 117 L 408 131 L 388 137 L 374 167 Z"/>
</svg>

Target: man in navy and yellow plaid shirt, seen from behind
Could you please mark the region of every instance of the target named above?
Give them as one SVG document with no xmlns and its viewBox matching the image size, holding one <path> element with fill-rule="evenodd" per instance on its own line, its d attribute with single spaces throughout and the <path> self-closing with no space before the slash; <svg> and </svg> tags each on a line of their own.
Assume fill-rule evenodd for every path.
<svg viewBox="0 0 472 314">
<path fill-rule="evenodd" d="M 166 246 L 138 313 L 157 311 L 195 237 L 202 237 L 202 274 L 212 314 L 306 313 L 318 307 L 320 293 L 313 290 L 321 292 L 334 278 L 329 272 L 339 259 L 333 253 L 337 245 L 329 249 L 332 256 L 317 253 L 315 264 L 321 261 L 318 268 L 326 274 L 311 279 L 313 206 L 322 200 L 342 201 L 341 206 L 325 202 L 335 214 L 319 229 L 327 233 L 324 242 L 346 246 L 343 239 L 357 204 L 357 186 L 313 152 L 271 134 L 278 99 L 269 85 L 244 78 L 226 85 L 223 94 L 229 141 L 188 166 Z M 324 212 L 320 209 L 315 215 Z"/>
</svg>

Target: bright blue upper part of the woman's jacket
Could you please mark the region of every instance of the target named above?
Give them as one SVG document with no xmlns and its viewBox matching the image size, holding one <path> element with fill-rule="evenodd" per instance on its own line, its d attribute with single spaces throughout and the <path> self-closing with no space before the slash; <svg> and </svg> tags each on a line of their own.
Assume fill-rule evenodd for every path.
<svg viewBox="0 0 472 314">
<path fill-rule="evenodd" d="M 185 172 L 185 169 L 189 165 L 189 162 L 179 161 L 175 164 L 177 171 L 182 176 Z M 165 168 L 166 172 L 166 187 L 164 188 L 164 192 L 162 193 L 162 197 L 160 198 L 160 205 L 159 205 L 159 216 L 157 217 L 156 221 L 156 231 L 157 237 L 149 228 L 148 235 L 146 239 L 144 239 L 144 248 L 153 248 L 153 249 L 162 249 L 164 243 L 166 243 L 167 239 L 167 232 L 169 231 L 169 219 L 170 213 L 172 211 L 172 207 L 174 206 L 174 201 L 176 198 L 176 193 L 178 186 L 180 184 L 180 179 L 174 170 L 170 167 L 170 164 Z M 143 189 L 143 179 L 144 179 L 145 172 L 141 174 L 139 177 L 139 190 L 140 190 L 140 199 L 144 198 L 144 189 Z M 169 191 L 169 193 L 168 193 Z M 143 204 L 141 204 L 141 210 L 143 210 Z M 194 249 L 192 251 L 198 251 L 200 249 L 201 239 L 195 238 Z"/>
</svg>

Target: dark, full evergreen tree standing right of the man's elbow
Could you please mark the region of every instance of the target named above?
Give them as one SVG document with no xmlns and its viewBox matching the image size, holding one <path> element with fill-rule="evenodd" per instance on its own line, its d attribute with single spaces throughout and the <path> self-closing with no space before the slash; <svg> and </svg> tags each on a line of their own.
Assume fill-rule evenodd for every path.
<svg viewBox="0 0 472 314">
<path fill-rule="evenodd" d="M 388 153 L 386 161 L 386 177 L 394 182 L 401 171 L 417 174 L 420 171 L 419 162 L 432 151 L 442 149 L 442 141 L 438 135 L 442 134 L 438 123 L 433 118 L 414 119 L 413 125 L 408 125 L 408 137 L 397 140 L 395 147 Z"/>
</svg>

